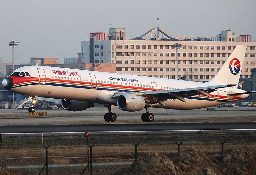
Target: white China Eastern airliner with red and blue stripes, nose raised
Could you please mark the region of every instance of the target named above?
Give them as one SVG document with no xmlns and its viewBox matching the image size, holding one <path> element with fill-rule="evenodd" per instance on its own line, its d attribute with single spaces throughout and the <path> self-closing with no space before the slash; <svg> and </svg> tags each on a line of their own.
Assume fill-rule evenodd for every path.
<svg viewBox="0 0 256 175">
<path fill-rule="evenodd" d="M 103 104 L 108 108 L 104 115 L 107 122 L 116 121 L 111 105 L 130 112 L 146 109 L 141 120 L 152 122 L 155 117 L 149 112 L 150 107 L 199 109 L 234 102 L 254 93 L 237 88 L 246 47 L 237 45 L 214 78 L 204 83 L 31 65 L 16 69 L 2 85 L 12 92 L 29 95 L 32 100 L 37 97 L 61 99 L 62 107 L 69 111 Z M 36 109 L 28 110 L 35 112 Z"/>
</svg>

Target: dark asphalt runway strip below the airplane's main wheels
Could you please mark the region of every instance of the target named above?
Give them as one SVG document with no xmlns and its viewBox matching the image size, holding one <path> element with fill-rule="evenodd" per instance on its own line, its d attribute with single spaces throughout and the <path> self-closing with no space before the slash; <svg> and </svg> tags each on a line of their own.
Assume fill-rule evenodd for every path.
<svg viewBox="0 0 256 175">
<path fill-rule="evenodd" d="M 174 132 L 174 131 L 228 131 L 256 130 L 255 122 L 237 123 L 142 123 L 142 124 L 90 124 L 90 125 L 33 125 L 1 126 L 2 134 L 19 133 L 122 133 L 122 132 Z"/>
</svg>

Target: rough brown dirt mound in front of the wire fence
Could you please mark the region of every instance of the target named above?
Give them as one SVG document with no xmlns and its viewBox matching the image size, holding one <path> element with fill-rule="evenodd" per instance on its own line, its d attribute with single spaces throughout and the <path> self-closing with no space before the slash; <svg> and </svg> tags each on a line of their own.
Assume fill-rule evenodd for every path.
<svg viewBox="0 0 256 175">
<path fill-rule="evenodd" d="M 143 160 L 134 162 L 128 168 L 115 171 L 117 174 L 255 174 L 256 153 L 253 148 L 241 148 L 225 151 L 212 158 L 193 147 L 169 158 L 166 155 L 148 155 Z"/>
</svg>

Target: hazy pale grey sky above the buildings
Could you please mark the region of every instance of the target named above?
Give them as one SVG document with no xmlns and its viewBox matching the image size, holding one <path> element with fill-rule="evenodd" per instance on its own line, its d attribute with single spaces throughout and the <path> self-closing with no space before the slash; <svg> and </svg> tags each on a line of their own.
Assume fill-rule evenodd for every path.
<svg viewBox="0 0 256 175">
<path fill-rule="evenodd" d="M 29 63 L 30 57 L 77 57 L 81 41 L 91 32 L 111 27 L 126 28 L 136 37 L 157 27 L 172 36 L 215 36 L 221 30 L 251 34 L 256 40 L 255 0 L 0 0 L 0 57 L 14 64 Z"/>
</svg>

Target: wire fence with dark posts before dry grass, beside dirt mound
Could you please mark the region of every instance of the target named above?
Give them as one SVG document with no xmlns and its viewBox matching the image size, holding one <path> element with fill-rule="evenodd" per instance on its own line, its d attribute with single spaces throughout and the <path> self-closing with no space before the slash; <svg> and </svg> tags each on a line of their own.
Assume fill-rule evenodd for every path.
<svg viewBox="0 0 256 175">
<path fill-rule="evenodd" d="M 21 174 L 108 174 L 155 152 L 175 157 L 194 147 L 213 156 L 255 143 L 255 132 L 2 135 L 0 165 Z"/>
</svg>

